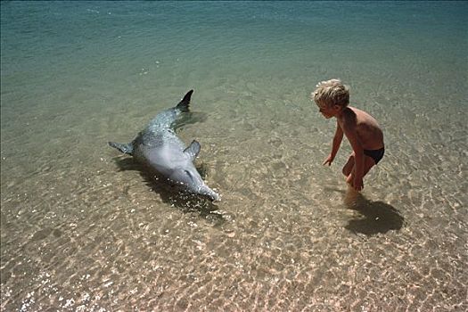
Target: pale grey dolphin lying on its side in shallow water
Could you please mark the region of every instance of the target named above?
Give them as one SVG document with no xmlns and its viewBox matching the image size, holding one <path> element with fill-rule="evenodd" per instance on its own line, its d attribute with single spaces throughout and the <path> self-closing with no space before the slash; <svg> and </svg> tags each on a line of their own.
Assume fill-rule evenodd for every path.
<svg viewBox="0 0 468 312">
<path fill-rule="evenodd" d="M 200 143 L 193 140 L 185 148 L 175 132 L 177 119 L 189 111 L 192 94 L 193 90 L 190 90 L 175 107 L 157 114 L 131 143 L 109 142 L 109 145 L 132 155 L 138 162 L 167 177 L 168 181 L 183 186 L 189 193 L 219 201 L 219 194 L 205 184 L 193 165 L 201 149 Z"/>
</svg>

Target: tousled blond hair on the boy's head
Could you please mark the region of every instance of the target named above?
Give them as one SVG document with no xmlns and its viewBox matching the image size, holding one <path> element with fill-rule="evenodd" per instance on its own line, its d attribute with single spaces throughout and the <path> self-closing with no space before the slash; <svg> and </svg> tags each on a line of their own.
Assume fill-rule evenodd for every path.
<svg viewBox="0 0 468 312">
<path fill-rule="evenodd" d="M 319 82 L 316 85 L 316 91 L 311 95 L 317 104 L 328 107 L 333 105 L 346 107 L 349 104 L 349 86 L 343 85 L 340 79 Z"/>
</svg>

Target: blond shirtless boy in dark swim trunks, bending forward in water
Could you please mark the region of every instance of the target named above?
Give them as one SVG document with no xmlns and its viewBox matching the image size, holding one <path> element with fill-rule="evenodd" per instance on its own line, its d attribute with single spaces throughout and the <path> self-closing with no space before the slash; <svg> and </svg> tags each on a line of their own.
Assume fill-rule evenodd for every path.
<svg viewBox="0 0 468 312">
<path fill-rule="evenodd" d="M 339 79 L 322 81 L 312 93 L 319 111 L 325 119 L 336 118 L 336 132 L 333 137 L 332 152 L 324 161 L 324 165 L 332 165 L 336 153 L 340 149 L 343 134 L 349 140 L 353 152 L 344 165 L 342 172 L 355 190 L 364 187 L 363 177 L 383 157 L 383 133 L 377 121 L 365 111 L 349 105 L 349 88 Z"/>
</svg>

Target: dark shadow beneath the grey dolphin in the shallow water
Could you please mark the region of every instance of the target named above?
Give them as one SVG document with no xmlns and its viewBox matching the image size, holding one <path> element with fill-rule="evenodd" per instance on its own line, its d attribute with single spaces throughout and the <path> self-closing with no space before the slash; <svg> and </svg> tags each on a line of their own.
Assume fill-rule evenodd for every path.
<svg viewBox="0 0 468 312">
<path fill-rule="evenodd" d="M 167 178 L 161 177 L 151 169 L 144 167 L 133 158 L 116 157 L 114 161 L 119 166 L 121 171 L 133 170 L 138 171 L 141 177 L 144 178 L 144 183 L 152 188 L 152 191 L 160 194 L 160 199 L 163 202 L 177 207 L 184 213 L 196 211 L 200 213 L 201 218 L 208 219 L 216 225 L 221 225 L 226 222 L 226 218 L 218 212 L 218 206 L 211 201 L 201 198 L 200 196 L 186 193 L 177 185 L 168 183 Z M 201 177 L 206 176 L 206 168 L 201 165 L 197 167 Z"/>
</svg>

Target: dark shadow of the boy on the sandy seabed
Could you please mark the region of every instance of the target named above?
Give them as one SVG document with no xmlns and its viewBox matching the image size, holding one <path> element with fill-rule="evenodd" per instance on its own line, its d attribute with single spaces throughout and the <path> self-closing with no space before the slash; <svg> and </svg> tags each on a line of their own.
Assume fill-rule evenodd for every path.
<svg viewBox="0 0 468 312">
<path fill-rule="evenodd" d="M 341 192 L 341 191 L 340 191 Z M 383 201 L 369 201 L 361 193 L 352 188 L 344 194 L 344 204 L 347 209 L 356 210 L 359 216 L 348 221 L 345 226 L 351 232 L 365 235 L 385 234 L 390 230 L 399 230 L 403 226 L 403 218 L 397 209 Z"/>
</svg>

